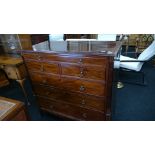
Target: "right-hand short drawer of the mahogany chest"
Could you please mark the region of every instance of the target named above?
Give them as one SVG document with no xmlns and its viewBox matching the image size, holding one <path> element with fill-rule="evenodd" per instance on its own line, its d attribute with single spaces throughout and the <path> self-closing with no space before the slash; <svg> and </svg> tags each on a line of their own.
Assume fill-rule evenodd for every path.
<svg viewBox="0 0 155 155">
<path fill-rule="evenodd" d="M 103 66 L 80 66 L 62 63 L 62 74 L 78 76 L 94 80 L 105 80 L 106 72 Z"/>
</svg>

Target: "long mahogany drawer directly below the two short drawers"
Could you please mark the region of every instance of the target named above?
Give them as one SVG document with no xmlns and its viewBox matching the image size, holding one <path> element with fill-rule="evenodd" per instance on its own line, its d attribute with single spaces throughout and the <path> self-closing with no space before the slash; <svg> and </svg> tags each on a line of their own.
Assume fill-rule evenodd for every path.
<svg viewBox="0 0 155 155">
<path fill-rule="evenodd" d="M 38 72 L 30 72 L 31 80 L 37 84 L 45 84 L 59 87 L 66 91 L 81 92 L 96 96 L 105 96 L 105 84 L 103 82 L 81 80 L 79 78 L 60 77 Z"/>
</svg>

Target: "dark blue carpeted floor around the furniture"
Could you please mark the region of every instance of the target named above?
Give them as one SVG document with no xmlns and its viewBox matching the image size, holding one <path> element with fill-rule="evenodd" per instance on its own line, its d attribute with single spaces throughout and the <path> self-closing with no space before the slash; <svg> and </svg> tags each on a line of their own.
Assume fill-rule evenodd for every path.
<svg viewBox="0 0 155 155">
<path fill-rule="evenodd" d="M 133 51 L 133 49 L 129 49 Z M 113 84 L 112 98 L 112 120 L 114 121 L 153 121 L 155 120 L 155 66 L 152 62 L 143 65 L 142 71 L 145 73 L 146 86 L 124 83 L 124 88 L 117 89 L 116 83 Z M 138 80 L 141 82 L 140 75 L 121 73 L 121 79 Z M 31 102 L 28 112 L 33 121 L 60 121 L 62 119 L 49 115 L 40 114 L 35 97 L 29 81 L 25 83 L 25 88 Z M 0 88 L 0 96 L 17 99 L 25 102 L 23 93 L 17 82 L 11 81 L 7 87 Z"/>
</svg>

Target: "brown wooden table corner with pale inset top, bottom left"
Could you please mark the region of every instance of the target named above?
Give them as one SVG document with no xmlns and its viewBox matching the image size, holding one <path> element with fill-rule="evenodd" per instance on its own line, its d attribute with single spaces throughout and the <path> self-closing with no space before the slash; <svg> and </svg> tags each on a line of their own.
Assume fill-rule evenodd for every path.
<svg viewBox="0 0 155 155">
<path fill-rule="evenodd" d="M 0 121 L 27 121 L 24 104 L 20 101 L 0 97 Z"/>
</svg>

